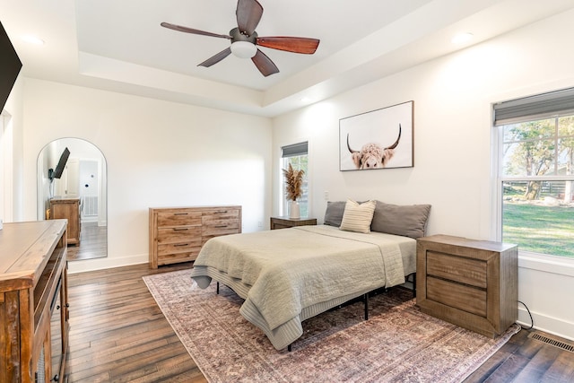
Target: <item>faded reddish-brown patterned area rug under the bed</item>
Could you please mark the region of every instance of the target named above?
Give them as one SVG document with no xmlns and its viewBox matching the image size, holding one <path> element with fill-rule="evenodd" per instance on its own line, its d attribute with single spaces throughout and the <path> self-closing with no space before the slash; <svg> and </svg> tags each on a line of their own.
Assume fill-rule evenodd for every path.
<svg viewBox="0 0 574 383">
<path fill-rule="evenodd" d="M 459 382 L 520 327 L 493 340 L 423 314 L 395 288 L 303 322 L 291 353 L 277 351 L 239 314 L 243 302 L 215 283 L 202 290 L 189 270 L 143 280 L 210 382 Z"/>
</svg>

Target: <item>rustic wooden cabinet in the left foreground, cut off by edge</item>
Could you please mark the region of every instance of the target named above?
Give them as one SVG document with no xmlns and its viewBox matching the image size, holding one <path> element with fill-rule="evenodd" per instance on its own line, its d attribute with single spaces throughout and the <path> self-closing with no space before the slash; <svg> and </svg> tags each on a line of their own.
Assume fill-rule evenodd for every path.
<svg viewBox="0 0 574 383">
<path fill-rule="evenodd" d="M 0 382 L 65 381 L 66 222 L 0 230 Z"/>
</svg>

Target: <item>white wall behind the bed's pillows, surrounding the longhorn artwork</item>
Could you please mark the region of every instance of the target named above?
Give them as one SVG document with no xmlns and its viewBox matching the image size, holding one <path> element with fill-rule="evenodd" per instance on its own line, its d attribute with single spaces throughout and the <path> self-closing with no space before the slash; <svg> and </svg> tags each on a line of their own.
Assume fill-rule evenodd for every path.
<svg viewBox="0 0 574 383">
<path fill-rule="evenodd" d="M 441 57 L 274 119 L 274 213 L 280 147 L 309 138 L 310 215 L 330 200 L 431 204 L 428 234 L 494 239 L 491 103 L 574 86 L 574 12 Z M 339 171 L 340 118 L 414 100 L 414 167 Z M 544 269 L 544 271 L 543 271 Z M 535 326 L 574 338 L 574 264 L 521 257 L 519 300 Z M 552 299 L 549 299 L 552 297 Z M 524 308 L 519 319 L 530 323 Z"/>
</svg>

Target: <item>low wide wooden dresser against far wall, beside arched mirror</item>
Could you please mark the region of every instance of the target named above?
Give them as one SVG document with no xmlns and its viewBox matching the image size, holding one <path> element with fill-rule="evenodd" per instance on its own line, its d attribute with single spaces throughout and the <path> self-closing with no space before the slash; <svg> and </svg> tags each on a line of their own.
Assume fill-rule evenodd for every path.
<svg viewBox="0 0 574 383">
<path fill-rule="evenodd" d="M 207 239 L 241 232 L 241 206 L 150 208 L 150 267 L 196 259 Z"/>
</svg>

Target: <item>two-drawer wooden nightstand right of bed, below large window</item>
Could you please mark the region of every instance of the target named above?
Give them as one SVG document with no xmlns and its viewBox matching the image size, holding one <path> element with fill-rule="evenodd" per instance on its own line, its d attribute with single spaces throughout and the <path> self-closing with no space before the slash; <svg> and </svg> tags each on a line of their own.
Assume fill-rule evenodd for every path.
<svg viewBox="0 0 574 383">
<path fill-rule="evenodd" d="M 518 248 L 434 235 L 417 239 L 417 305 L 479 334 L 502 334 L 518 315 Z"/>
</svg>

